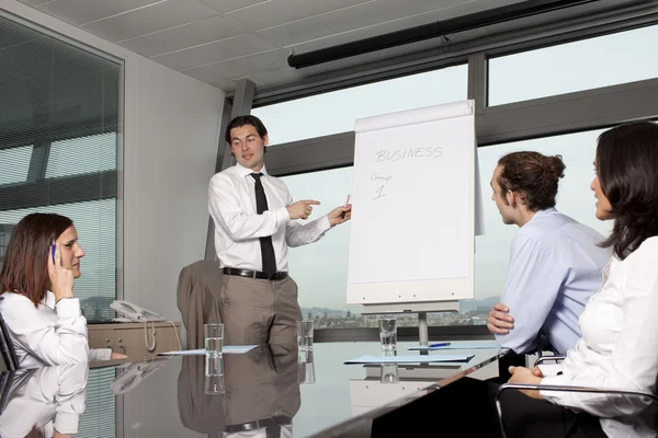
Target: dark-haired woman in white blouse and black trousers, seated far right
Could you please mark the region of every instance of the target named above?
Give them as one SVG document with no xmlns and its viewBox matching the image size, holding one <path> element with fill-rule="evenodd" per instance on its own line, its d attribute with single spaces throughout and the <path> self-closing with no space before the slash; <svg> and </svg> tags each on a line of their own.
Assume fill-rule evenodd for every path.
<svg viewBox="0 0 658 438">
<path fill-rule="evenodd" d="M 614 255 L 601 288 L 580 315 L 576 347 L 552 376 L 537 368 L 510 367 L 510 382 L 594 387 L 656 394 L 658 381 L 658 125 L 622 125 L 599 137 L 597 218 L 614 220 L 602 246 Z M 375 423 L 415 436 L 445 418 L 462 436 L 500 436 L 494 395 L 499 385 L 463 378 Z M 626 438 L 658 435 L 658 406 L 648 397 L 610 393 L 504 391 L 500 397 L 508 437 Z M 420 427 L 420 426 L 418 426 Z"/>
</svg>

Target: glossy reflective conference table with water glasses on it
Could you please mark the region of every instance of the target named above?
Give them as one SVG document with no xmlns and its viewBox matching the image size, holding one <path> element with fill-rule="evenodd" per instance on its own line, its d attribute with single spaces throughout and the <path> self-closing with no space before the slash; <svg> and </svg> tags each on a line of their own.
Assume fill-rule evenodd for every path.
<svg viewBox="0 0 658 438">
<path fill-rule="evenodd" d="M 4 372 L 0 436 L 370 437 L 376 418 L 496 361 L 499 349 L 483 344 L 429 353 L 468 361 L 397 366 L 343 364 L 379 355 L 375 342 L 316 344 L 308 357 L 263 345 L 225 354 L 219 385 L 205 356 Z M 419 355 L 407 350 L 417 345 L 400 343 L 397 354 Z"/>
</svg>

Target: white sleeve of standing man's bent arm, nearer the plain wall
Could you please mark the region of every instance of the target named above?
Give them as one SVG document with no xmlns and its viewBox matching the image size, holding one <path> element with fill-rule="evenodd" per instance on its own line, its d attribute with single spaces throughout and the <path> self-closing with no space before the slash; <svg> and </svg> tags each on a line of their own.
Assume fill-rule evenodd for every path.
<svg viewBox="0 0 658 438">
<path fill-rule="evenodd" d="M 290 221 L 285 207 L 268 210 L 262 215 L 246 214 L 237 193 L 228 177 L 217 174 L 211 178 L 208 211 L 215 227 L 222 228 L 234 242 L 272 235 Z"/>
</svg>

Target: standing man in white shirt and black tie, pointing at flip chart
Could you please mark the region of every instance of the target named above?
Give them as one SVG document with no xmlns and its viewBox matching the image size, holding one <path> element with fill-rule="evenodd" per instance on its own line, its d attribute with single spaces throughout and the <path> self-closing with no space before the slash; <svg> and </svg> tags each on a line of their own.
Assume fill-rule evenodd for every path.
<svg viewBox="0 0 658 438">
<path fill-rule="evenodd" d="M 283 181 L 268 174 L 263 163 L 268 130 L 254 116 L 238 116 L 225 139 L 237 164 L 215 174 L 208 188 L 208 210 L 215 223 L 215 250 L 222 279 L 222 321 L 225 343 L 287 344 L 302 320 L 297 285 L 287 273 L 288 246 L 319 240 L 331 227 L 351 218 L 341 206 L 308 223 L 314 205 L 293 203 Z"/>
</svg>

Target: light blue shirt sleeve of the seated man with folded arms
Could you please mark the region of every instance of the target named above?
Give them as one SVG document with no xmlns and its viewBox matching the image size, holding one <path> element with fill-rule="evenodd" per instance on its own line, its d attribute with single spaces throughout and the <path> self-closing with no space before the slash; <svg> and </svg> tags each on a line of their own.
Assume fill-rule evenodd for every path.
<svg viewBox="0 0 658 438">
<path fill-rule="evenodd" d="M 514 318 L 508 334 L 497 334 L 503 348 L 523 354 L 537 347 L 537 335 L 559 292 L 566 270 L 552 251 L 525 237 L 517 237 L 510 251 L 510 266 L 500 302 Z"/>
</svg>

